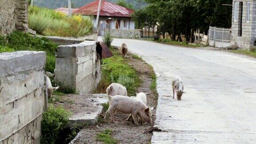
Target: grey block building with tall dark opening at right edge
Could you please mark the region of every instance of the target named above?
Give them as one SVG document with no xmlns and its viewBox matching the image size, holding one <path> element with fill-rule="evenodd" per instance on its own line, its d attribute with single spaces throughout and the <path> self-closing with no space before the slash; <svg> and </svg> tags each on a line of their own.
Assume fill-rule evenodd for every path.
<svg viewBox="0 0 256 144">
<path fill-rule="evenodd" d="M 233 0 L 231 44 L 241 49 L 256 46 L 256 0 Z"/>
</svg>

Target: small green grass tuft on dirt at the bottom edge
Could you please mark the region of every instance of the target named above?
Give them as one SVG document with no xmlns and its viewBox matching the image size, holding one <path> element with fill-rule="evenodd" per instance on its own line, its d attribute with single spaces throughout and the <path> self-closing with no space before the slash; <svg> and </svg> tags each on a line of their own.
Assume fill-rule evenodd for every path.
<svg viewBox="0 0 256 144">
<path fill-rule="evenodd" d="M 112 137 L 112 129 L 105 129 L 96 135 L 96 140 L 104 142 L 104 144 L 116 144 L 116 140 Z"/>
</svg>

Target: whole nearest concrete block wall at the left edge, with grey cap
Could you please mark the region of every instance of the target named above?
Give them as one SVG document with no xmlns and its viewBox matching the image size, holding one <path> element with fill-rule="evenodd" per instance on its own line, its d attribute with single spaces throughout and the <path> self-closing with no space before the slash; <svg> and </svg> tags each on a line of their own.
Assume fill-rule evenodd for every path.
<svg viewBox="0 0 256 144">
<path fill-rule="evenodd" d="M 40 144 L 45 60 L 45 52 L 0 53 L 0 143 Z"/>
</svg>

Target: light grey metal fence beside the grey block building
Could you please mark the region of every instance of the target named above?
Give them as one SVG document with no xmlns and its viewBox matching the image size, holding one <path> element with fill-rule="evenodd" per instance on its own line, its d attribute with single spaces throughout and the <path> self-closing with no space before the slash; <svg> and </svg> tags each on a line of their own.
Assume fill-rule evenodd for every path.
<svg viewBox="0 0 256 144">
<path fill-rule="evenodd" d="M 231 30 L 230 28 L 209 28 L 209 46 L 224 48 L 230 46 Z"/>
</svg>

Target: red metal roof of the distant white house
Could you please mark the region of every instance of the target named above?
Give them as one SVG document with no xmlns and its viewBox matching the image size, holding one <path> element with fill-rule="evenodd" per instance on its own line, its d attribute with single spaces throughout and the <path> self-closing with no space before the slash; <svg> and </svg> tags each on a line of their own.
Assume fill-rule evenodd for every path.
<svg viewBox="0 0 256 144">
<path fill-rule="evenodd" d="M 74 11 L 74 14 L 97 15 L 99 0 L 93 1 Z M 120 5 L 102 0 L 100 5 L 100 16 L 131 17 L 133 10 Z"/>
</svg>

